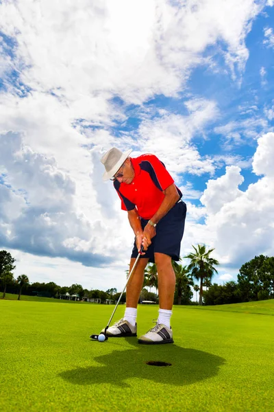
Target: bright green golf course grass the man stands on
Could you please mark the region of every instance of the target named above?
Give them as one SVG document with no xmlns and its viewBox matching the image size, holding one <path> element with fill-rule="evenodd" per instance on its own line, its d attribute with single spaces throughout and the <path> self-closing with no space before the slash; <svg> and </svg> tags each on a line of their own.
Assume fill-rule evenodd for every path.
<svg viewBox="0 0 274 412">
<path fill-rule="evenodd" d="M 0 410 L 273 411 L 274 301 L 241 305 L 175 306 L 175 344 L 151 347 L 90 341 L 114 306 L 0 299 Z M 155 317 L 138 307 L 138 335 Z"/>
</svg>

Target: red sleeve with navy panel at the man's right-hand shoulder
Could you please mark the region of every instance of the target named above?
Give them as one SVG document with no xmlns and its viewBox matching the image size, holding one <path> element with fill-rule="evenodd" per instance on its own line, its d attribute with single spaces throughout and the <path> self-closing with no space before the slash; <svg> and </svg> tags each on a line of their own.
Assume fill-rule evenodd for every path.
<svg viewBox="0 0 274 412">
<path fill-rule="evenodd" d="M 155 155 L 145 155 L 140 168 L 146 170 L 150 174 L 153 183 L 162 192 L 174 183 L 174 180 L 166 170 L 164 163 L 162 163 L 162 161 Z"/>
</svg>

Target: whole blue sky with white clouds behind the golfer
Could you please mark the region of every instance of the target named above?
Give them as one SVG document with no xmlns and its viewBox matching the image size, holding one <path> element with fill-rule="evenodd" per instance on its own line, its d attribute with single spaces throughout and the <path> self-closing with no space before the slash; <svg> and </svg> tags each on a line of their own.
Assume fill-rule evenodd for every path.
<svg viewBox="0 0 274 412">
<path fill-rule="evenodd" d="M 164 162 L 213 282 L 274 255 L 274 0 L 1 0 L 0 249 L 30 282 L 122 290 L 103 154 Z"/>
</svg>

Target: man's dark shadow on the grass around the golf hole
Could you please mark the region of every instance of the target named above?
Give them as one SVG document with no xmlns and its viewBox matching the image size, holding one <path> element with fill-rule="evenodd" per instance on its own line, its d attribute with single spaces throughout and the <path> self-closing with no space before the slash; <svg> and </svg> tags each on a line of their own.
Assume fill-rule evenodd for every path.
<svg viewBox="0 0 274 412">
<path fill-rule="evenodd" d="M 108 343 L 121 346 L 123 338 L 109 339 Z M 136 338 L 125 338 L 132 347 L 113 350 L 93 358 L 98 366 L 79 367 L 63 371 L 60 376 L 75 385 L 110 383 L 130 387 L 127 379 L 140 378 L 171 385 L 190 385 L 218 374 L 225 359 L 200 350 L 177 345 L 140 345 Z M 103 345 L 108 344 L 103 343 Z M 90 342 L 90 345 L 102 345 Z M 147 362 L 171 363 L 171 366 L 150 366 Z"/>
</svg>

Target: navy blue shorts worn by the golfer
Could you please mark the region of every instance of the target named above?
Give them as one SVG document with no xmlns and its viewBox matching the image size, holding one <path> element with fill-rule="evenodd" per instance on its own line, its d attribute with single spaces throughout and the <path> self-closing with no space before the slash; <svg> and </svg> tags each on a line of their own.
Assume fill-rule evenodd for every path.
<svg viewBox="0 0 274 412">
<path fill-rule="evenodd" d="M 164 253 L 171 256 L 173 260 L 179 260 L 179 253 L 181 247 L 181 241 L 184 235 L 184 222 L 186 220 L 186 203 L 179 200 L 168 211 L 158 225 L 156 226 L 156 236 L 151 239 L 151 245 L 145 252 L 145 255 L 141 255 L 141 258 L 149 258 L 149 262 L 154 263 L 154 253 Z M 142 229 L 145 228 L 147 222 L 141 218 Z M 138 250 L 136 242 L 134 242 L 134 248 L 132 249 L 132 258 L 137 258 Z"/>
</svg>

